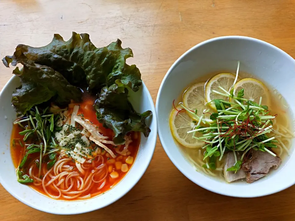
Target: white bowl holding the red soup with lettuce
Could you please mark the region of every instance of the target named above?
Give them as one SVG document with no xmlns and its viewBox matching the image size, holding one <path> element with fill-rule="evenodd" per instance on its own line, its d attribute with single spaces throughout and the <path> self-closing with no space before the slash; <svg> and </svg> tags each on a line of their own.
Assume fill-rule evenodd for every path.
<svg viewBox="0 0 295 221">
<path fill-rule="evenodd" d="M 0 93 L 0 182 L 2 186 L 15 198 L 37 210 L 54 214 L 79 214 L 108 206 L 119 200 L 140 180 L 153 156 L 157 140 L 157 121 L 155 107 L 147 87 L 142 84 L 139 91 L 130 91 L 129 100 L 138 112 L 151 110 L 153 116 L 147 118 L 147 125 L 151 129 L 148 138 L 141 136 L 141 143 L 136 160 L 127 175 L 111 190 L 88 200 L 64 201 L 53 200 L 34 191 L 29 186 L 19 184 L 10 154 L 10 136 L 12 123 L 16 113 L 11 107 L 12 92 L 20 85 L 19 78 L 13 76 Z"/>
</svg>

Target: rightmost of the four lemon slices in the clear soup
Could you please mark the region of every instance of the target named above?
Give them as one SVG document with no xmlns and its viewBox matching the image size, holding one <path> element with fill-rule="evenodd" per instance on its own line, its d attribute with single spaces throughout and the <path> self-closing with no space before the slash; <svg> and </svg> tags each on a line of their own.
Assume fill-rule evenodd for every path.
<svg viewBox="0 0 295 221">
<path fill-rule="evenodd" d="M 259 103 L 262 97 L 262 105 L 269 106 L 270 96 L 268 88 L 259 80 L 244 78 L 234 85 L 234 95 L 244 88 L 244 98 Z"/>
</svg>

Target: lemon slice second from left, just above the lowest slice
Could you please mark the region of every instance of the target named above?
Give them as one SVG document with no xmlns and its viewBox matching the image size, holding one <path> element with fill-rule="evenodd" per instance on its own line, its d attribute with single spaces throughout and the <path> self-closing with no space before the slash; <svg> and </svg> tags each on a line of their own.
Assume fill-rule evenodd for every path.
<svg viewBox="0 0 295 221">
<path fill-rule="evenodd" d="M 189 87 L 183 94 L 183 105 L 190 110 L 197 110 L 197 115 L 200 117 L 203 114 L 203 111 L 208 109 L 205 98 L 205 82 L 203 83 L 195 83 L 191 87 Z M 209 113 L 213 113 L 213 110 L 209 110 Z M 204 115 L 204 120 L 208 122 L 212 122 L 210 120 L 210 114 Z"/>
</svg>

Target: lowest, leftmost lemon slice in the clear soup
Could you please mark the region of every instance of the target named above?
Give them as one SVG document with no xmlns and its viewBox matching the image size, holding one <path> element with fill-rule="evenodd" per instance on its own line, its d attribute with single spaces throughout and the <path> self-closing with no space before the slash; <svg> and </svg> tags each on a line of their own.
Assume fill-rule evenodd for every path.
<svg viewBox="0 0 295 221">
<path fill-rule="evenodd" d="M 181 110 L 180 106 L 177 106 L 176 109 Z M 170 129 L 172 136 L 183 146 L 188 148 L 197 148 L 201 147 L 204 142 L 199 141 L 193 138 L 193 134 L 188 134 L 187 131 L 193 130 L 195 123 L 192 122 L 191 117 L 186 112 L 179 112 L 173 110 L 170 115 Z M 195 137 L 201 137 L 203 134 L 196 132 Z"/>
</svg>

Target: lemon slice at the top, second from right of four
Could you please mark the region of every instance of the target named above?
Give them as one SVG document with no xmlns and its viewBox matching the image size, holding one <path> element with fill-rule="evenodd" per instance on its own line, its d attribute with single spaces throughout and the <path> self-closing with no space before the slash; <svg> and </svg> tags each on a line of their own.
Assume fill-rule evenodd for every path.
<svg viewBox="0 0 295 221">
<path fill-rule="evenodd" d="M 206 101 L 210 102 L 214 99 L 227 100 L 228 98 L 226 96 L 215 94 L 214 92 L 212 92 L 212 90 L 215 90 L 224 94 L 225 92 L 222 91 L 219 88 L 219 86 L 221 86 L 226 91 L 229 91 L 230 87 L 233 86 L 235 77 L 236 76 L 230 73 L 220 73 L 214 76 L 212 79 L 210 79 L 210 81 L 206 84 L 206 88 L 205 88 Z M 209 105 L 212 109 L 216 110 L 214 102 L 209 103 Z"/>
</svg>

